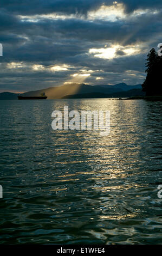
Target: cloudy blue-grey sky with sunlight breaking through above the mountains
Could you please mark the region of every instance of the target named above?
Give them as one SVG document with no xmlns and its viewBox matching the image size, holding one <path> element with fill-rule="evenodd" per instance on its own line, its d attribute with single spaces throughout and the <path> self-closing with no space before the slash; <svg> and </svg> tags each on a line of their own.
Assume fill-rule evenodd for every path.
<svg viewBox="0 0 162 256">
<path fill-rule="evenodd" d="M 0 92 L 141 84 L 162 42 L 161 0 L 1 0 Z"/>
</svg>

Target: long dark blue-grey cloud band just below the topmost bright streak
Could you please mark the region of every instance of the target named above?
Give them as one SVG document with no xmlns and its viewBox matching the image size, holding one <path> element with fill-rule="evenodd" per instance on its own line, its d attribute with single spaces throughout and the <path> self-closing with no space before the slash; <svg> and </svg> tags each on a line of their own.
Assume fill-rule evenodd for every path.
<svg viewBox="0 0 162 256">
<path fill-rule="evenodd" d="M 0 14 L 1 15 L 1 14 Z M 4 15 L 3 15 L 4 16 Z M 41 19 L 37 22 L 8 22 L 8 33 L 29 36 L 31 40 L 37 41 L 37 36 L 53 42 L 64 38 L 80 39 L 82 41 L 114 41 L 120 44 L 132 44 L 138 41 L 146 41 L 150 36 L 161 32 L 161 13 L 144 14 L 140 17 L 131 17 L 131 20 L 122 21 L 89 21 L 82 19 L 50 20 Z M 5 31 L 6 25 L 2 25 Z M 40 40 L 42 41 L 43 38 Z M 46 46 L 45 46 L 46 47 Z"/>
</svg>

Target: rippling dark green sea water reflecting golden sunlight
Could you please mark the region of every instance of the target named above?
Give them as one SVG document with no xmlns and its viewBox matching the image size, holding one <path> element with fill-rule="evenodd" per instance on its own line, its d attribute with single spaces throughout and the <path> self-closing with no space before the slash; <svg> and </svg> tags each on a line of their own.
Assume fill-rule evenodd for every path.
<svg viewBox="0 0 162 256">
<path fill-rule="evenodd" d="M 111 132 L 53 131 L 63 106 Z M 160 244 L 161 102 L 0 101 L 0 243 Z"/>
</svg>

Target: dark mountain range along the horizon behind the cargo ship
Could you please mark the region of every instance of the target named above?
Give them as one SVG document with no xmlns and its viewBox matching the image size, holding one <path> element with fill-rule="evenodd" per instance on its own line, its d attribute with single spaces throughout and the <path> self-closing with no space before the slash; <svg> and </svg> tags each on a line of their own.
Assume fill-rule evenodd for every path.
<svg viewBox="0 0 162 256">
<path fill-rule="evenodd" d="M 62 99 L 72 97 L 129 97 L 142 96 L 144 93 L 141 89 L 141 84 L 136 86 L 128 86 L 126 83 L 112 85 L 96 85 L 69 83 L 60 87 L 49 87 L 46 89 L 30 91 L 27 93 L 16 94 L 4 92 L 0 93 L 0 100 L 16 100 L 18 95 L 21 96 L 40 96 L 45 93 L 48 99 Z"/>
</svg>

